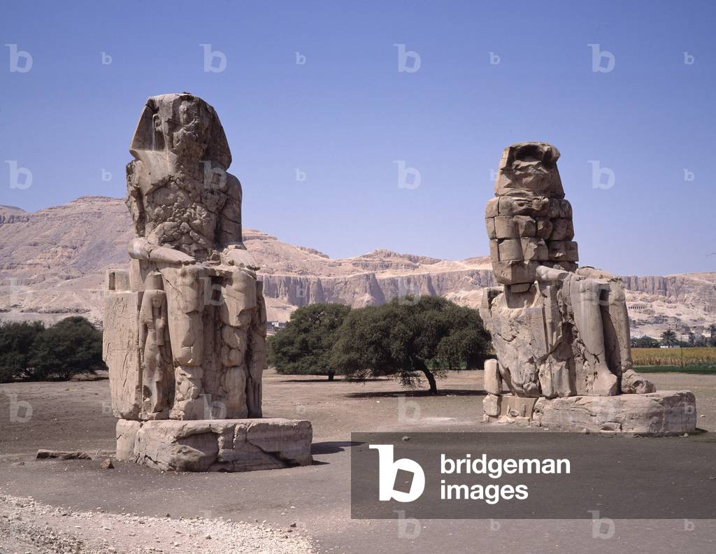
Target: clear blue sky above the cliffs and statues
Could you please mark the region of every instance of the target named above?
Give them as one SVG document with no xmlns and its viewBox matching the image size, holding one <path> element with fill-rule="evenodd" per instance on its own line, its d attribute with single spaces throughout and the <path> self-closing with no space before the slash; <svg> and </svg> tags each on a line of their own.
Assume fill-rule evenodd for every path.
<svg viewBox="0 0 716 554">
<path fill-rule="evenodd" d="M 188 91 L 226 129 L 245 226 L 287 242 L 487 254 L 500 152 L 545 140 L 581 264 L 716 271 L 715 22 L 707 0 L 6 2 L 0 204 L 123 196 L 146 98 Z"/>
</svg>

